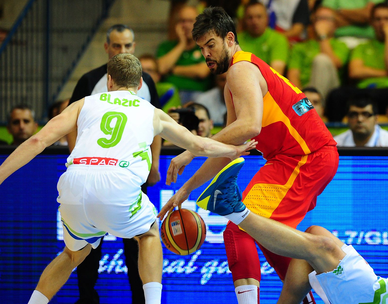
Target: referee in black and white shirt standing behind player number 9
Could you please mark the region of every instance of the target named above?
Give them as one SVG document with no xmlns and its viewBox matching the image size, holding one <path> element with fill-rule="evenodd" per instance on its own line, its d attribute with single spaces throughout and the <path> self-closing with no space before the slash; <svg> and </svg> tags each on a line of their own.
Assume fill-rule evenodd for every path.
<svg viewBox="0 0 388 304">
<path fill-rule="evenodd" d="M 135 34 L 133 30 L 124 24 L 115 24 L 111 26 L 106 33 L 106 42 L 104 43 L 105 52 L 108 59 L 121 53 L 135 52 Z M 86 96 L 107 92 L 106 86 L 107 63 L 84 74 L 74 88 L 73 95 L 69 104 L 80 100 Z M 149 101 L 152 105 L 160 108 L 159 97 L 156 92 L 154 81 L 147 73 L 142 73 L 143 86 L 137 92 L 137 95 Z M 68 138 L 69 150 L 74 149 L 77 132 L 70 133 Z M 161 149 L 161 138 L 156 136 L 151 144 L 152 165 L 147 184 L 142 185 L 142 191 L 146 193 L 147 185 L 152 186 L 160 180 L 159 174 L 159 155 Z M 99 261 L 101 259 L 101 247 L 103 241 L 96 249 L 92 249 L 85 260 L 77 267 L 78 288 L 80 290 L 80 299 L 76 302 L 81 303 L 99 303 L 99 295 L 94 289 L 97 282 Z M 123 239 L 124 255 L 126 266 L 128 268 L 128 279 L 132 291 L 133 303 L 145 303 L 142 281 L 138 270 L 139 248 L 134 239 Z"/>
</svg>

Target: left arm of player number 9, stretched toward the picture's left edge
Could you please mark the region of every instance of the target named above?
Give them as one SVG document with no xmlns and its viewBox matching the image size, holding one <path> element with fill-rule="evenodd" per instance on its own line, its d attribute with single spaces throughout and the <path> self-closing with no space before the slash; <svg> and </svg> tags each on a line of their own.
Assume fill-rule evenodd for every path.
<svg viewBox="0 0 388 304">
<path fill-rule="evenodd" d="M 0 184 L 17 169 L 23 167 L 46 147 L 76 130 L 78 114 L 84 99 L 69 105 L 64 111 L 51 119 L 38 133 L 31 136 L 12 152 L 0 166 Z"/>
</svg>

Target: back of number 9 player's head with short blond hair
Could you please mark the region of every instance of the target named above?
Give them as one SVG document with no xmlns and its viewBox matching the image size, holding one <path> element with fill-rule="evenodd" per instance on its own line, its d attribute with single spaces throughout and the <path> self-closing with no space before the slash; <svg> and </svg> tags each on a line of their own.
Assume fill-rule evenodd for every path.
<svg viewBox="0 0 388 304">
<path fill-rule="evenodd" d="M 116 85 L 137 88 L 142 77 L 142 64 L 132 54 L 117 54 L 109 60 L 107 73 Z"/>
</svg>

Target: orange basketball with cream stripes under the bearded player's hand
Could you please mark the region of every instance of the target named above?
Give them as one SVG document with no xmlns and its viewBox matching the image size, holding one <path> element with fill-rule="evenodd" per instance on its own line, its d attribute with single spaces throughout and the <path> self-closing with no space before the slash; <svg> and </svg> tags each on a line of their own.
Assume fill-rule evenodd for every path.
<svg viewBox="0 0 388 304">
<path fill-rule="evenodd" d="M 189 209 L 178 209 L 170 212 L 163 221 L 160 235 L 168 249 L 185 256 L 202 246 L 206 237 L 206 226 L 198 213 Z"/>
</svg>

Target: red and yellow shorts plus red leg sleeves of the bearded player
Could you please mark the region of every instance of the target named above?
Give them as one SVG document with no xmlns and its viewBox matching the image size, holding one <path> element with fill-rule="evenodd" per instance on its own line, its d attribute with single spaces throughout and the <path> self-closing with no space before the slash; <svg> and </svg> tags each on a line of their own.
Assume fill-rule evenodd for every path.
<svg viewBox="0 0 388 304">
<path fill-rule="evenodd" d="M 338 159 L 337 148 L 332 146 L 304 156 L 277 155 L 255 174 L 242 193 L 242 201 L 252 212 L 296 228 L 306 213 L 314 209 L 317 196 L 333 179 Z M 233 280 L 255 278 L 260 281 L 255 240 L 229 222 L 224 241 Z M 284 280 L 290 259 L 258 245 Z"/>
</svg>

